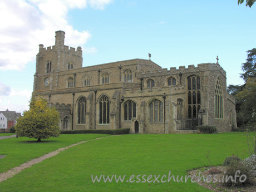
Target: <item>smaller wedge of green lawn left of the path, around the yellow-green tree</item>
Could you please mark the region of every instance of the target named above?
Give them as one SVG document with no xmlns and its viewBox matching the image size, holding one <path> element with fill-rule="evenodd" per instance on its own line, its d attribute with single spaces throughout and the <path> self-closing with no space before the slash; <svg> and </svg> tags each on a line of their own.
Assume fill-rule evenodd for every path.
<svg viewBox="0 0 256 192">
<path fill-rule="evenodd" d="M 6 155 L 6 157 L 0 159 L 0 173 L 61 147 L 102 136 L 109 135 L 60 135 L 59 137 L 42 140 L 43 142 L 36 142 L 36 139 L 29 139 L 28 137 L 12 137 L 0 140 L 0 155 Z"/>
</svg>

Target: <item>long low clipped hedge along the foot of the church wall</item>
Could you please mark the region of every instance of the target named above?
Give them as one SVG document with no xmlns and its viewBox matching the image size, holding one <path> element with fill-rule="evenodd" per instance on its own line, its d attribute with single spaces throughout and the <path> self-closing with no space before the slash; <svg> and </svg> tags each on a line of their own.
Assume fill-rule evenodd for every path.
<svg viewBox="0 0 256 192">
<path fill-rule="evenodd" d="M 109 134 L 121 135 L 129 134 L 130 129 L 87 129 L 87 130 L 62 130 L 61 134 Z"/>
</svg>

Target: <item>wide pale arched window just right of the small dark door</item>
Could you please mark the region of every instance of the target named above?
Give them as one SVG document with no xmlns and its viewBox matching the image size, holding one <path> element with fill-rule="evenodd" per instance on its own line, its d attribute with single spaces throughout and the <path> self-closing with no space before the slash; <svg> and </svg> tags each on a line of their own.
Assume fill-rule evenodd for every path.
<svg viewBox="0 0 256 192">
<path fill-rule="evenodd" d="M 149 121 L 163 122 L 163 102 L 154 99 L 149 103 Z"/>
</svg>

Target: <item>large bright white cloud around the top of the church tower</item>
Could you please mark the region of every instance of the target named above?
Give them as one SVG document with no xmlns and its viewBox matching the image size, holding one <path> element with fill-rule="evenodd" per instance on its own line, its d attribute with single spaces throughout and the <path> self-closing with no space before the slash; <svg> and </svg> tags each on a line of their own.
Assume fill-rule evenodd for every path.
<svg viewBox="0 0 256 192">
<path fill-rule="evenodd" d="M 66 32 L 66 45 L 84 45 L 91 34 L 67 21 L 70 9 L 104 9 L 112 0 L 5 0 L 0 2 L 0 70 L 21 70 L 35 61 L 38 45 L 52 46 L 55 31 Z M 94 50 L 95 48 L 87 48 Z"/>
</svg>

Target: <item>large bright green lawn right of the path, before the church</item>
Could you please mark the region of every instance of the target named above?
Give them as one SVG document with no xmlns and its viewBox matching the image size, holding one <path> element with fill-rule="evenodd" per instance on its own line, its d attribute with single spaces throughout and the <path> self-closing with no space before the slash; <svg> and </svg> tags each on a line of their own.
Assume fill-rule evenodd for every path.
<svg viewBox="0 0 256 192">
<path fill-rule="evenodd" d="M 0 183 L 0 191 L 209 191 L 190 181 L 127 183 L 126 180 L 132 174 L 135 177 L 151 174 L 153 179 L 154 175 L 168 176 L 169 170 L 175 176 L 185 176 L 186 170 L 210 165 L 205 156 L 208 151 L 211 163 L 220 165 L 232 154 L 247 157 L 247 148 L 247 138 L 241 132 L 111 136 L 71 147 L 33 165 Z M 92 183 L 92 174 L 125 174 L 126 179 L 124 183 Z"/>
</svg>

